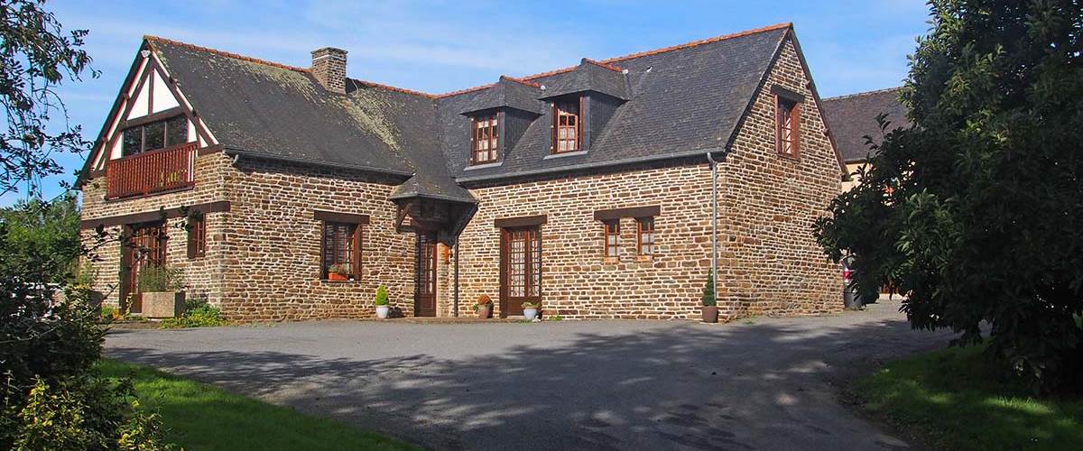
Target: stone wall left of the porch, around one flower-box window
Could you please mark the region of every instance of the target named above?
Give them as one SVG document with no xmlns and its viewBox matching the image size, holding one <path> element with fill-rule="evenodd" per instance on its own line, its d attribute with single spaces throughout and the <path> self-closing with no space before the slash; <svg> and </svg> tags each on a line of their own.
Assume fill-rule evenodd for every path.
<svg viewBox="0 0 1083 451">
<path fill-rule="evenodd" d="M 224 244 L 230 257 L 222 311 L 235 320 L 375 316 L 379 284 L 393 307 L 414 311 L 414 236 L 395 231 L 394 181 L 354 171 L 243 158 L 227 184 L 235 222 Z M 367 214 L 362 275 L 321 279 L 323 223 L 314 210 Z"/>
</svg>

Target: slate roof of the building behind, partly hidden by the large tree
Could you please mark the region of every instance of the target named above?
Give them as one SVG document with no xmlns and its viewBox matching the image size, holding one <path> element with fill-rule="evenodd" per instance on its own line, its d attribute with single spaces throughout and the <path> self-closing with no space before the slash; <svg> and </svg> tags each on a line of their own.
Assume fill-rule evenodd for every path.
<svg viewBox="0 0 1083 451">
<path fill-rule="evenodd" d="M 835 146 L 847 163 L 869 158 L 865 136 L 875 140 L 882 136 L 877 115 L 887 114 L 886 119 L 891 122 L 889 130 L 910 127 L 906 108 L 899 102 L 899 88 L 824 98 L 821 105 L 824 121 L 835 136 Z"/>
</svg>

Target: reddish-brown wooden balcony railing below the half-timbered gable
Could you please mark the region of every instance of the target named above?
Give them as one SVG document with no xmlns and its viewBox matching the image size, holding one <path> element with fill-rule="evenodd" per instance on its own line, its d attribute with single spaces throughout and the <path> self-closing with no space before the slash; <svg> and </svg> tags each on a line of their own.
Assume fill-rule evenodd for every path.
<svg viewBox="0 0 1083 451">
<path fill-rule="evenodd" d="M 117 199 L 187 188 L 196 143 L 151 150 L 105 163 L 105 197 Z"/>
</svg>

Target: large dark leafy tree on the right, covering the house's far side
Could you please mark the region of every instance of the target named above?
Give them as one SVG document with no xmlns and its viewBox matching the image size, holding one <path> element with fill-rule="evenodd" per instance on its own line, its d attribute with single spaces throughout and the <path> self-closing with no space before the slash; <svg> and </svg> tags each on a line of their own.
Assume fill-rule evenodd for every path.
<svg viewBox="0 0 1083 451">
<path fill-rule="evenodd" d="M 1083 11 L 1077 0 L 934 0 L 862 184 L 815 226 L 857 287 L 891 282 L 917 329 L 983 341 L 1035 388 L 1083 369 Z M 882 119 L 883 122 L 883 119 Z M 872 141 L 870 140 L 870 143 Z M 1078 388 L 1074 387 L 1074 388 Z"/>
</svg>

